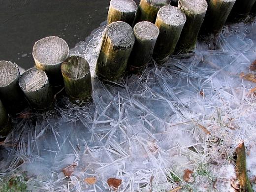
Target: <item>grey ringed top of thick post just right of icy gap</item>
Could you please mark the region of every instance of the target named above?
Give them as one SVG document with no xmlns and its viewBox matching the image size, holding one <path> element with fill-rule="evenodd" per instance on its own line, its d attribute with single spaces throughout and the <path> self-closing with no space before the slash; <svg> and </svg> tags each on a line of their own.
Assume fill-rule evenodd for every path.
<svg viewBox="0 0 256 192">
<path fill-rule="evenodd" d="M 128 48 L 134 44 L 135 37 L 132 28 L 123 21 L 109 24 L 104 34 L 111 40 L 113 46 L 118 48 Z"/>
</svg>

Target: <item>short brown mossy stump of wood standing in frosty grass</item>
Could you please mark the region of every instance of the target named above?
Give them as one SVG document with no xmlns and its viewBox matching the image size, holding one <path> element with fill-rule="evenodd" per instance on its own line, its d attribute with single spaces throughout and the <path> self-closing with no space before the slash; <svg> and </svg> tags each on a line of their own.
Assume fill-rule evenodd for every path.
<svg viewBox="0 0 256 192">
<path fill-rule="evenodd" d="M 236 177 L 239 181 L 241 192 L 253 192 L 250 180 L 247 175 L 246 153 L 244 142 L 240 143 L 236 150 Z"/>
</svg>

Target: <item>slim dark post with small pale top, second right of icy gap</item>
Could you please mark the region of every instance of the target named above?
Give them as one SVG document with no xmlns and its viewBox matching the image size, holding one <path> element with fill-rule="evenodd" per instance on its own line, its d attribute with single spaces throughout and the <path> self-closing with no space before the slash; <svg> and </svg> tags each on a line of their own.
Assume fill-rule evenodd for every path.
<svg viewBox="0 0 256 192">
<path fill-rule="evenodd" d="M 143 21 L 134 26 L 133 32 L 136 40 L 128 60 L 129 70 L 140 72 L 152 57 L 159 29 L 153 23 Z"/>
</svg>

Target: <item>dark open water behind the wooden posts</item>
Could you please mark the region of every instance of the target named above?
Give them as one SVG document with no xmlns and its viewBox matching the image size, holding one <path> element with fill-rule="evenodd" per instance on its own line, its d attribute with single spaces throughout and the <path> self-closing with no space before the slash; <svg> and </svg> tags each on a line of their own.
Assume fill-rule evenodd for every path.
<svg viewBox="0 0 256 192">
<path fill-rule="evenodd" d="M 46 36 L 74 47 L 107 19 L 109 1 L 0 0 L 0 60 L 32 67 L 33 44 Z"/>
</svg>

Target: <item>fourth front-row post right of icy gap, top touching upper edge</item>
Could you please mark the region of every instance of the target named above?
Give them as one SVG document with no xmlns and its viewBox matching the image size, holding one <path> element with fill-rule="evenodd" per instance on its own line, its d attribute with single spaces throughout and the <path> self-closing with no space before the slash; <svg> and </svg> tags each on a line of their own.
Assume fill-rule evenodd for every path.
<svg viewBox="0 0 256 192">
<path fill-rule="evenodd" d="M 197 35 L 207 10 L 207 2 L 205 0 L 178 0 L 178 7 L 186 14 L 187 21 L 175 52 L 189 52 L 195 48 Z"/>
</svg>

